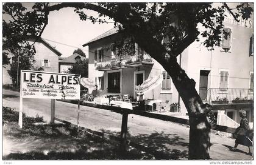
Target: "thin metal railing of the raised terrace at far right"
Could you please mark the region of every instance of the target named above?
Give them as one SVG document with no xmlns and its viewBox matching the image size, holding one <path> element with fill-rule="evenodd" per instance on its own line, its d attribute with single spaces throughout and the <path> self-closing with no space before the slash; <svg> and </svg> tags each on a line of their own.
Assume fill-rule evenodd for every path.
<svg viewBox="0 0 256 165">
<path fill-rule="evenodd" d="M 253 89 L 210 88 L 207 91 L 207 101 L 210 103 L 249 103 L 253 99 Z"/>
</svg>

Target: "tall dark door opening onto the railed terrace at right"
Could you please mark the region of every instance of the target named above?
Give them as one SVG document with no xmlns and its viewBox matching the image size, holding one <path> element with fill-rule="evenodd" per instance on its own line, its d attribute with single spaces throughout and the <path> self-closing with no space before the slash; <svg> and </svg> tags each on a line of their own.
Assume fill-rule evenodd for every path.
<svg viewBox="0 0 256 165">
<path fill-rule="evenodd" d="M 205 100 L 207 98 L 209 73 L 210 70 L 200 70 L 199 96 L 202 100 Z"/>
</svg>

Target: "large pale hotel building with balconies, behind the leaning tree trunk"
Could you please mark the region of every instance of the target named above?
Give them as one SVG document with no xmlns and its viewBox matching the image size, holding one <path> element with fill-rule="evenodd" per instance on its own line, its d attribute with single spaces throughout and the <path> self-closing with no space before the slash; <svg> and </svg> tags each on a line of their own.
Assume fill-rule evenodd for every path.
<svg viewBox="0 0 256 165">
<path fill-rule="evenodd" d="M 177 61 L 196 81 L 197 92 L 205 103 L 212 104 L 216 116 L 222 110 L 230 120 L 240 123 L 238 110 L 244 109 L 249 122 L 253 122 L 253 18 L 237 23 L 227 16 L 224 25 L 223 34 L 229 36 L 223 37 L 221 47 L 208 51 L 200 42 L 193 42 L 177 56 Z M 149 77 L 162 75 L 162 84 L 147 92 L 144 99 L 180 103 L 181 113 L 187 113 L 168 73 L 137 43 L 133 56 L 118 55 L 114 42 L 120 37 L 118 30 L 111 29 L 83 45 L 89 47 L 88 77 L 95 79 L 98 95 L 128 94 L 135 99 L 138 85 Z"/>
</svg>

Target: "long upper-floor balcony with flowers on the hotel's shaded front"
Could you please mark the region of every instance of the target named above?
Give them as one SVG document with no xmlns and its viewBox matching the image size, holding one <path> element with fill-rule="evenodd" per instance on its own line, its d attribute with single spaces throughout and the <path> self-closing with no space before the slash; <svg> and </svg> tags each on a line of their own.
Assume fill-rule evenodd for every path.
<svg viewBox="0 0 256 165">
<path fill-rule="evenodd" d="M 107 71 L 152 64 L 154 64 L 154 62 L 152 61 L 151 56 L 143 50 L 139 50 L 138 55 L 126 55 L 118 57 L 117 59 L 101 59 L 96 64 L 96 70 Z"/>
</svg>

